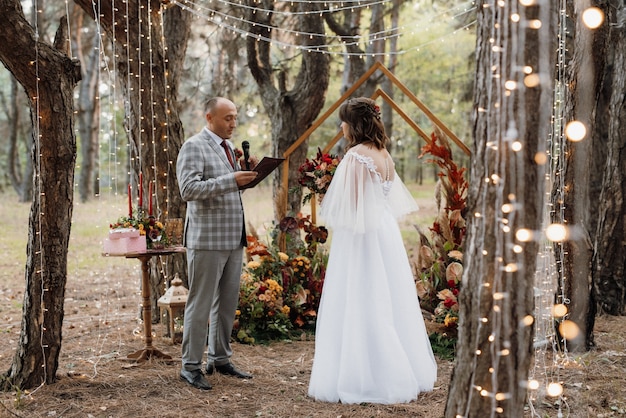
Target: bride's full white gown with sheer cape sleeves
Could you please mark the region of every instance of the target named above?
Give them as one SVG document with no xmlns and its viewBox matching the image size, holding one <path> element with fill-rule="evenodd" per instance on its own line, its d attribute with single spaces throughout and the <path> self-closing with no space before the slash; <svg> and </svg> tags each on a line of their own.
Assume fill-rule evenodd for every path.
<svg viewBox="0 0 626 418">
<path fill-rule="evenodd" d="M 397 173 L 346 153 L 321 204 L 332 244 L 315 331 L 309 396 L 402 403 L 430 391 L 437 365 L 397 217 L 417 209 Z"/>
</svg>

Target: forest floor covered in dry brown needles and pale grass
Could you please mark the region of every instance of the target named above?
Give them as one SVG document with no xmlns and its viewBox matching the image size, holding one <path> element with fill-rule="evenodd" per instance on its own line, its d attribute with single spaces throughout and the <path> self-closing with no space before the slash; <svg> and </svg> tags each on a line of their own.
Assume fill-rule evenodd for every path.
<svg viewBox="0 0 626 418">
<path fill-rule="evenodd" d="M 254 207 L 248 215 L 251 222 L 261 222 L 255 216 L 263 212 L 263 205 L 271 213 L 271 203 L 255 200 L 263 199 L 258 193 L 246 197 L 254 201 L 248 204 Z M 414 222 L 424 228 L 432 222 L 424 217 L 433 210 L 431 193 L 432 189 L 418 193 L 423 196 L 417 198 L 422 218 Z M 0 364 L 4 372 L 19 341 L 29 205 L 16 203 L 14 196 L 3 200 Z M 254 378 L 211 376 L 213 390 L 207 392 L 179 379 L 180 345 L 164 337 L 161 324 L 153 325 L 153 345 L 173 360 L 127 360 L 129 353 L 144 346 L 143 325 L 138 320 L 140 266 L 135 260 L 100 255 L 107 222 L 115 220 L 123 207 L 120 201 L 75 207 L 57 382 L 29 391 L 0 393 L 0 417 L 443 417 L 453 370 L 453 362 L 443 359 L 437 360 L 435 389 L 398 405 L 343 405 L 307 397 L 314 350 L 312 337 L 307 335 L 268 345 L 234 344 L 233 362 Z M 406 229 L 409 231 L 410 225 Z M 410 232 L 407 239 L 411 240 Z M 432 330 L 435 324 L 427 321 L 427 327 Z M 528 403 L 525 417 L 626 415 L 626 318 L 599 317 L 594 332 L 596 348 L 588 353 L 568 353 L 567 361 L 551 348 L 535 353 L 531 374 L 542 384 L 562 383 L 564 396 L 558 400 L 536 391 L 537 398 Z M 490 415 L 485 411 L 484 416 Z"/>
</svg>

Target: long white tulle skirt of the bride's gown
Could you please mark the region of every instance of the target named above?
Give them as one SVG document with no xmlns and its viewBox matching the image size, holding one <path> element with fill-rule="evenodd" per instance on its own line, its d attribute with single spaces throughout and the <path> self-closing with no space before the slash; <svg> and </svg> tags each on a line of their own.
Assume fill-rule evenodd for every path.
<svg viewBox="0 0 626 418">
<path fill-rule="evenodd" d="M 396 219 L 333 232 L 309 396 L 403 403 L 433 389 L 437 366 Z"/>
</svg>

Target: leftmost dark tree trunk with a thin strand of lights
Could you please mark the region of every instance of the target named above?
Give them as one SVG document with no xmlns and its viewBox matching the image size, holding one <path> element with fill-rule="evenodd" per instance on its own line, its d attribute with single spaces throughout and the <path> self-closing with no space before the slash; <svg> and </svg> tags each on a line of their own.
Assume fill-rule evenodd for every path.
<svg viewBox="0 0 626 418">
<path fill-rule="evenodd" d="M 58 369 L 74 202 L 73 92 L 80 67 L 38 42 L 17 0 L 0 0 L 0 15 L 0 38 L 11 40 L 0 42 L 0 59 L 30 99 L 35 136 L 22 328 L 5 381 L 25 389 L 54 382 Z M 66 29 L 63 18 L 55 46 L 66 43 Z"/>
</svg>

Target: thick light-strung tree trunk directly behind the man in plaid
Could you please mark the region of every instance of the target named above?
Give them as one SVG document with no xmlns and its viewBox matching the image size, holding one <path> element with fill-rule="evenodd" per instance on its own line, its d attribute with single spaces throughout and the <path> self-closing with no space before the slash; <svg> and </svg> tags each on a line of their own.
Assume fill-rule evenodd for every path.
<svg viewBox="0 0 626 418">
<path fill-rule="evenodd" d="M 148 196 L 148 185 L 153 183 L 154 216 L 184 218 L 186 205 L 180 197 L 176 179 L 176 158 L 184 141 L 180 121 L 176 88 L 177 74 L 169 72 L 166 58 L 183 59 L 186 37 L 191 19 L 181 20 L 180 26 L 168 23 L 168 33 L 176 28 L 182 37 L 174 41 L 173 48 L 165 52 L 163 44 L 163 19 L 161 2 L 127 2 L 124 8 L 113 8 L 114 2 L 104 0 L 92 5 L 90 0 L 75 0 L 91 18 L 96 8 L 97 19 L 113 40 L 117 57 L 118 79 L 125 98 L 125 128 L 129 137 L 129 156 L 133 190 L 137 189 L 139 173 L 143 173 L 143 195 Z M 166 12 L 167 13 L 167 12 Z M 182 14 L 181 14 L 182 15 Z M 172 19 L 175 15 L 171 14 Z M 180 69 L 180 63 L 173 68 Z M 147 198 L 144 199 L 147 209 Z M 165 292 L 165 282 L 178 272 L 186 281 L 187 268 L 184 254 L 172 255 L 161 264 L 151 263 L 152 320 L 159 320 L 157 301 Z"/>
</svg>

